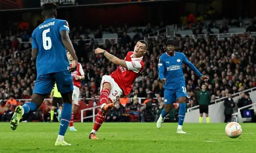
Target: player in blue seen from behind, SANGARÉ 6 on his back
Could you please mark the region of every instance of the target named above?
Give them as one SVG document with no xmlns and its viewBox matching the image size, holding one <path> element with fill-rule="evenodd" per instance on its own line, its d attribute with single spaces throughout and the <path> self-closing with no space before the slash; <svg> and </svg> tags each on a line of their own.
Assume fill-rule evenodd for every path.
<svg viewBox="0 0 256 153">
<path fill-rule="evenodd" d="M 11 129 L 16 130 L 23 114 L 37 110 L 49 95 L 55 82 L 62 95 L 63 109 L 59 135 L 55 146 L 69 146 L 64 135 L 69 126 L 72 110 L 73 78 L 70 72 L 76 70 L 78 58 L 69 39 L 69 24 L 56 19 L 58 6 L 53 3 L 42 5 L 45 21 L 32 33 L 32 60 L 36 59 L 37 79 L 31 102 L 18 106 L 10 121 Z M 72 67 L 66 56 L 66 49 L 73 57 Z"/>
</svg>

